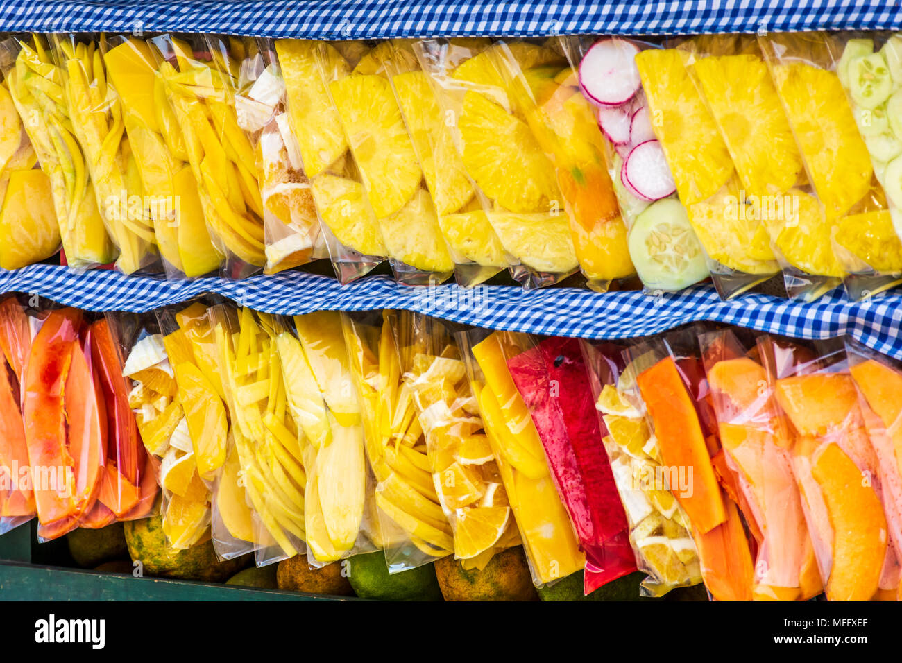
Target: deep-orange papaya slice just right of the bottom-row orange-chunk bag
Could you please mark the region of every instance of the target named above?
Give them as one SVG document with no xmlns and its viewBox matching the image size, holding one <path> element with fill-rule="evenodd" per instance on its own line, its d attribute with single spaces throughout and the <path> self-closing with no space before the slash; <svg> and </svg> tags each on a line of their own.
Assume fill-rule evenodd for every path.
<svg viewBox="0 0 902 663">
<path fill-rule="evenodd" d="M 674 496 L 693 527 L 705 534 L 727 520 L 727 512 L 686 385 L 671 357 L 640 373 L 637 383 L 658 437 L 662 465 L 692 473 L 692 490 Z"/>
</svg>

